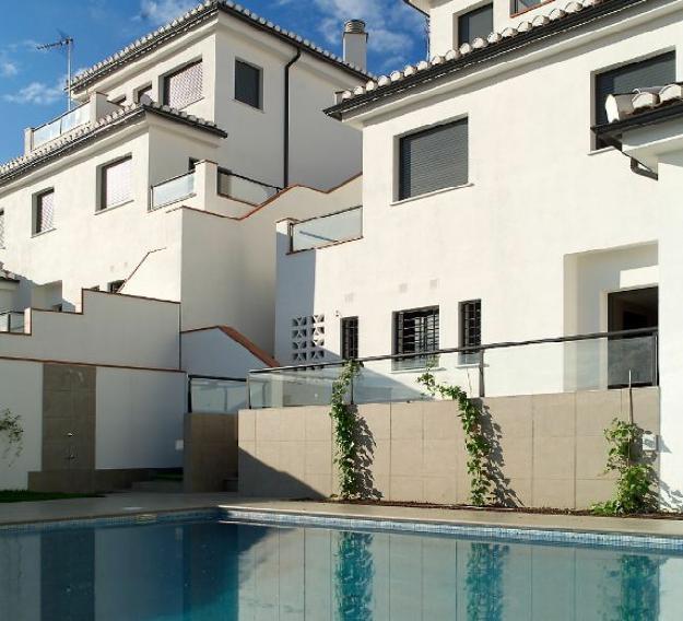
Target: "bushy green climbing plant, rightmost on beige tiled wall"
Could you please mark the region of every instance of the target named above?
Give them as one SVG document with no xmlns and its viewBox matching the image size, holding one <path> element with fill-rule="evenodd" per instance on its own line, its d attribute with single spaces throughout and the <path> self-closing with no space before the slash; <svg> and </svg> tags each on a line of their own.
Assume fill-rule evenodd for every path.
<svg viewBox="0 0 683 621">
<path fill-rule="evenodd" d="M 616 472 L 616 492 L 613 500 L 592 505 L 592 512 L 627 515 L 655 511 L 655 473 L 649 464 L 637 458 L 643 430 L 633 422 L 614 419 L 604 430 L 604 436 L 609 445 L 605 472 Z"/>
</svg>

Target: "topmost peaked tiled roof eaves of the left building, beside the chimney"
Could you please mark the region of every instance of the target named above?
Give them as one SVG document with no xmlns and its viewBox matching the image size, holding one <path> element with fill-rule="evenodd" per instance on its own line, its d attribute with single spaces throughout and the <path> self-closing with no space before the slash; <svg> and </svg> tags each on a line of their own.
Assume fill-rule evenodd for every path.
<svg viewBox="0 0 683 621">
<path fill-rule="evenodd" d="M 259 28 L 268 34 L 274 35 L 278 38 L 296 46 L 297 48 L 311 54 L 313 56 L 335 65 L 339 69 L 342 69 L 360 80 L 367 80 L 372 78 L 372 74 L 364 71 L 360 67 L 345 62 L 342 58 L 333 55 L 332 52 L 315 45 L 308 39 L 304 39 L 296 33 L 286 31 L 279 25 L 260 17 L 256 13 L 248 9 L 233 2 L 232 0 L 207 0 L 201 4 L 198 4 L 184 15 L 180 15 L 169 24 L 162 26 L 161 28 L 150 33 L 132 44 L 128 45 L 123 49 L 117 51 L 115 55 L 106 58 L 102 62 L 86 69 L 79 75 L 76 75 L 72 82 L 72 90 L 79 91 L 85 89 L 89 84 L 92 84 L 96 80 L 104 78 L 116 71 L 119 67 L 131 62 L 141 56 L 152 51 L 160 47 L 167 40 L 176 37 L 178 34 L 182 34 L 198 24 L 201 24 L 212 17 L 214 17 L 219 11 L 240 20 L 242 22 Z"/>
</svg>

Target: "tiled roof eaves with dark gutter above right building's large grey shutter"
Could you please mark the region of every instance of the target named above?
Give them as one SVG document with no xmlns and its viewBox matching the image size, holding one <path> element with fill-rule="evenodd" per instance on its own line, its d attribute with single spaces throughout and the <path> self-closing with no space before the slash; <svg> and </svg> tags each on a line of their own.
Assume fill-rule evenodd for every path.
<svg viewBox="0 0 683 621">
<path fill-rule="evenodd" d="M 531 22 L 522 21 L 516 28 L 506 27 L 499 33 L 491 33 L 486 39 L 478 38 L 472 44 L 463 44 L 444 56 L 435 56 L 431 61 L 409 65 L 403 71 L 393 71 L 390 75 L 381 75 L 377 81 L 370 80 L 364 86 L 345 91 L 342 101 L 327 108 L 325 113 L 341 119 L 345 113 L 474 66 L 480 67 L 483 62 L 532 43 L 646 2 L 648 0 L 573 0 L 564 9 L 553 9 L 550 14 L 537 15 Z"/>
</svg>

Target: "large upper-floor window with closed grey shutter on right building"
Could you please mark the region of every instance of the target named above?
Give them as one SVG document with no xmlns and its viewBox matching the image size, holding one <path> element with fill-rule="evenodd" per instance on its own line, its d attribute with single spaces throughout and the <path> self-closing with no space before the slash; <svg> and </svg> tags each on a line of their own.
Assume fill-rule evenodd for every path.
<svg viewBox="0 0 683 621">
<path fill-rule="evenodd" d="M 399 199 L 468 181 L 468 119 L 412 133 L 399 143 Z"/>
</svg>

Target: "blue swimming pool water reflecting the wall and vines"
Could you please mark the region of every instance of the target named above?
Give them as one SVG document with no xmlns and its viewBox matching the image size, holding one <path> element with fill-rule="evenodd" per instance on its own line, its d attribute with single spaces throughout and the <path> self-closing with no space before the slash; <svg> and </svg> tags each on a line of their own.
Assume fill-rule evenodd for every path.
<svg viewBox="0 0 683 621">
<path fill-rule="evenodd" d="M 215 519 L 7 531 L 0 619 L 683 619 L 683 555 Z"/>
</svg>

